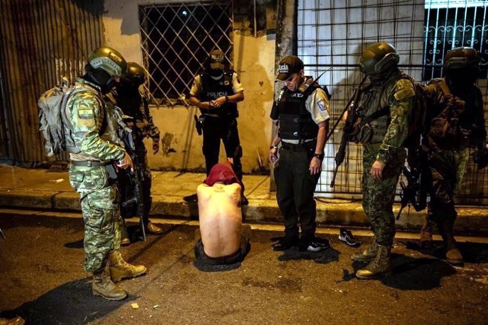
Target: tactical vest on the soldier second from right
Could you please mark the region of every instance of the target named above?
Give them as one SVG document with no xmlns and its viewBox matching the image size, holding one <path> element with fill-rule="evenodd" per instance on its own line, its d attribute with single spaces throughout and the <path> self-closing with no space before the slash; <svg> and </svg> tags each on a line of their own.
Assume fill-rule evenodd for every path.
<svg viewBox="0 0 488 325">
<path fill-rule="evenodd" d="M 361 94 L 354 122 L 353 132 L 349 141 L 361 144 L 382 143 L 390 124 L 390 107 L 388 104 L 388 89 L 400 79 L 409 79 L 401 72 L 390 77 L 381 85 L 370 85 Z"/>
</svg>

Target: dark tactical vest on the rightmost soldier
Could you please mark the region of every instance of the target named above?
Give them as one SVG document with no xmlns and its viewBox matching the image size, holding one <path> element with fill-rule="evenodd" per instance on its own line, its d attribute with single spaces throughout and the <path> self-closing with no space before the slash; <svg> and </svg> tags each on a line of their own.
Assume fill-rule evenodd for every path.
<svg viewBox="0 0 488 325">
<path fill-rule="evenodd" d="M 478 125 L 476 121 L 479 112 L 483 111 L 479 89 L 474 86 L 474 93 L 467 93 L 467 100 L 464 100 L 451 92 L 444 78 L 433 79 L 431 83 L 442 96 L 432 108 L 439 114 L 430 121 L 430 147 L 441 150 L 476 147 L 486 137 L 484 125 Z"/>
</svg>

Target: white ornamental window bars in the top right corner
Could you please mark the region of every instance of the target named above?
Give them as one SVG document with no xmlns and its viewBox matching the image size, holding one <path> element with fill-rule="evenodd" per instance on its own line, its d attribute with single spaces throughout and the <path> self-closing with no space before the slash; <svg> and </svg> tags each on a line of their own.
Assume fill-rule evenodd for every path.
<svg viewBox="0 0 488 325">
<path fill-rule="evenodd" d="M 425 65 L 422 79 L 442 77 L 443 58 L 459 46 L 475 48 L 481 55 L 481 78 L 488 78 L 488 1 L 425 2 Z"/>
</svg>

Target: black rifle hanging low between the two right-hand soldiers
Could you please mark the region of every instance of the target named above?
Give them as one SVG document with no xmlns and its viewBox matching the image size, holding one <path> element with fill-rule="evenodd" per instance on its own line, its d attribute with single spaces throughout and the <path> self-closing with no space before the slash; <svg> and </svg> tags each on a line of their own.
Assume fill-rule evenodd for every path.
<svg viewBox="0 0 488 325">
<path fill-rule="evenodd" d="M 425 177 L 422 175 L 420 169 L 414 168 L 411 170 L 409 167 L 403 167 L 403 175 L 407 178 L 407 185 L 404 181 L 400 182 L 402 190 L 400 191 L 401 207 L 396 215 L 396 220 L 400 219 L 402 210 L 408 205 L 410 212 L 410 205 L 413 206 L 415 211 L 421 211 L 427 206 L 427 191 L 425 188 Z"/>
</svg>

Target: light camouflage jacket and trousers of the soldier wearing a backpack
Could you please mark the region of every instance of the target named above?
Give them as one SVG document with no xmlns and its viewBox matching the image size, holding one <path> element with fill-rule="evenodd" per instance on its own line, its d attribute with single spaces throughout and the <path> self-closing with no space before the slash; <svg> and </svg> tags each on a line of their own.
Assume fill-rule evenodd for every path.
<svg viewBox="0 0 488 325">
<path fill-rule="evenodd" d="M 67 113 L 80 152 L 70 153 L 69 176 L 71 186 L 80 193 L 84 267 L 96 272 L 105 267 L 109 252 L 120 247 L 119 194 L 105 165 L 123 159 L 125 150 L 116 136 L 120 112 L 103 100 L 97 85 L 77 79 L 76 88 L 82 90 L 68 100 Z M 87 161 L 96 166 L 77 166 L 89 165 Z"/>
</svg>

